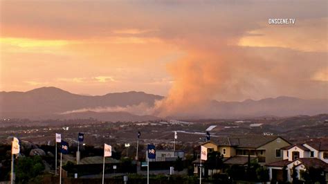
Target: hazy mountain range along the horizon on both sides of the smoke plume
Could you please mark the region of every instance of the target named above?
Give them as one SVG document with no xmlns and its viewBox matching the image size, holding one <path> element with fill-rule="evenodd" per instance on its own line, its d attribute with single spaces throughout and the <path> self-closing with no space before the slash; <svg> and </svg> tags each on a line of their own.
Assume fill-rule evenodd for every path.
<svg viewBox="0 0 328 184">
<path fill-rule="evenodd" d="M 78 95 L 55 87 L 42 87 L 26 92 L 0 92 L 0 118 L 76 119 L 96 118 L 107 121 L 143 121 L 160 119 L 152 114 L 131 113 L 127 107 L 154 107 L 161 95 L 129 91 L 106 95 Z M 142 104 L 142 105 L 140 105 Z M 97 111 L 94 109 L 102 109 Z M 105 110 L 104 110 L 105 109 Z M 106 110 L 107 109 L 107 110 Z M 116 109 L 116 110 L 113 110 Z M 205 109 L 179 113 L 167 118 L 246 118 L 258 116 L 297 116 L 328 113 L 327 99 L 304 100 L 293 97 L 218 102 Z"/>
</svg>

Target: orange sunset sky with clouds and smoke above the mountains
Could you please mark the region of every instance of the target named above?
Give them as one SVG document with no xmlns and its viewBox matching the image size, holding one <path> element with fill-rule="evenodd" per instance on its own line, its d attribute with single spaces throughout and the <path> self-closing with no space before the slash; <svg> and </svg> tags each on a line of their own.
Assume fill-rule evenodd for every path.
<svg viewBox="0 0 328 184">
<path fill-rule="evenodd" d="M 0 91 L 328 98 L 327 1 L 0 0 Z M 270 18 L 295 24 L 272 25 Z"/>
</svg>

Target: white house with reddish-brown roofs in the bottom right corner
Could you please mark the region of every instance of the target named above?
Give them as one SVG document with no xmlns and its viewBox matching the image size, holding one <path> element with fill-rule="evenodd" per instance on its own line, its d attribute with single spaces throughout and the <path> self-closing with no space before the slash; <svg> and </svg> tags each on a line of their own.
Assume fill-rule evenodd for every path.
<svg viewBox="0 0 328 184">
<path fill-rule="evenodd" d="M 271 181 L 292 182 L 293 172 L 298 180 L 303 180 L 302 173 L 311 167 L 320 169 L 328 181 L 328 138 L 309 140 L 302 144 L 282 148 L 284 160 L 267 164 Z"/>
</svg>

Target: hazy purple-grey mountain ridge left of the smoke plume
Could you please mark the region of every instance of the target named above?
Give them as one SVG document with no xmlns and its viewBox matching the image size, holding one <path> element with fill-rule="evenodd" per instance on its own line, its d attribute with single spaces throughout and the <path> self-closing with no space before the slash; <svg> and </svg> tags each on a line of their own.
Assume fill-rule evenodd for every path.
<svg viewBox="0 0 328 184">
<path fill-rule="evenodd" d="M 152 106 L 160 95 L 130 91 L 125 93 L 108 93 L 107 95 L 77 95 L 55 87 L 42 87 L 26 92 L 0 92 L 2 113 L 62 113 L 75 109 L 95 107 L 126 107 L 141 102 Z"/>
</svg>

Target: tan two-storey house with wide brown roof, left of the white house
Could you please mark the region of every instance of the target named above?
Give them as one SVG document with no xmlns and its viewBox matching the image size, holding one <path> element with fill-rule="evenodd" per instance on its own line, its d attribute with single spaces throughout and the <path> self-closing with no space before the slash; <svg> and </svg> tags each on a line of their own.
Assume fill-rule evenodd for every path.
<svg viewBox="0 0 328 184">
<path fill-rule="evenodd" d="M 283 160 L 282 148 L 291 145 L 280 136 L 239 135 L 216 138 L 201 144 L 208 153 L 219 151 L 224 156 L 224 165 L 247 166 L 248 156 L 260 165 Z M 199 159 L 194 161 L 194 173 L 199 172 Z"/>
</svg>

